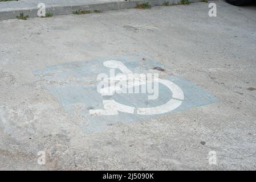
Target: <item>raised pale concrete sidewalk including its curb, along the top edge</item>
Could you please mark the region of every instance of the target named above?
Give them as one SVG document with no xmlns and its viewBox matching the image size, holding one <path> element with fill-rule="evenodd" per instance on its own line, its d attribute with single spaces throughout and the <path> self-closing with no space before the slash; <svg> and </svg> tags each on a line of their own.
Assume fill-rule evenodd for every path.
<svg viewBox="0 0 256 182">
<path fill-rule="evenodd" d="M 165 0 L 21 0 L 0 2 L 0 20 L 14 19 L 23 13 L 29 17 L 36 17 L 38 12 L 38 4 L 46 5 L 46 13 L 52 15 L 72 14 L 77 10 L 119 10 L 135 8 L 139 3 L 149 2 L 151 6 L 160 6 Z M 169 0 L 171 3 L 177 3 L 178 0 Z M 200 2 L 200 0 L 192 0 L 191 2 Z"/>
</svg>

